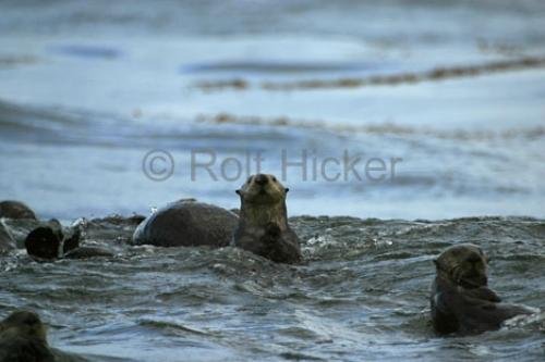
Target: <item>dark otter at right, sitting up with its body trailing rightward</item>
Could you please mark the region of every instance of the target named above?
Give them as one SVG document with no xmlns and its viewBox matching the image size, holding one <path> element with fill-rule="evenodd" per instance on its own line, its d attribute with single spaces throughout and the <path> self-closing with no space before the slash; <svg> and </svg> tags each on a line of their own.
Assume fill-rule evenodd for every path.
<svg viewBox="0 0 545 362">
<path fill-rule="evenodd" d="M 531 314 L 522 305 L 501 303 L 487 287 L 487 263 L 475 245 L 461 244 L 445 250 L 435 261 L 432 285 L 432 320 L 438 334 L 477 334 L 501 327 L 519 314 Z"/>
</svg>

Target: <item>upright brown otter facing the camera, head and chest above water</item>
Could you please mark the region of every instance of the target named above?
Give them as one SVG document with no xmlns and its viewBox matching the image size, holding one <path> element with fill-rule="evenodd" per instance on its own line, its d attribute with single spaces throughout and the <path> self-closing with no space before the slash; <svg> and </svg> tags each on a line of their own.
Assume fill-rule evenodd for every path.
<svg viewBox="0 0 545 362">
<path fill-rule="evenodd" d="M 278 263 L 302 261 L 299 238 L 288 225 L 284 188 L 275 176 L 251 176 L 237 190 L 241 199 L 234 246 Z"/>
</svg>

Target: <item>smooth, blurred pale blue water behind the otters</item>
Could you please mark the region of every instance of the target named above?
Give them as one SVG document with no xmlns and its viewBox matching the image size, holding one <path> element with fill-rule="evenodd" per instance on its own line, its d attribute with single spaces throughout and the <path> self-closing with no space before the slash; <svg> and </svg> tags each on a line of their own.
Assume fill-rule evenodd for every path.
<svg viewBox="0 0 545 362">
<path fill-rule="evenodd" d="M 540 64 L 264 87 L 543 57 L 542 1 L 3 1 L 1 12 L 0 189 L 43 216 L 147 212 L 185 197 L 237 207 L 244 177 L 233 165 L 235 180 L 204 170 L 192 180 L 191 151 L 203 148 L 216 174 L 225 158 L 257 151 L 278 175 L 282 150 L 290 162 L 303 150 L 402 159 L 384 182 L 304 180 L 289 167 L 292 214 L 544 215 Z M 165 182 L 142 171 L 153 149 L 174 160 Z"/>
</svg>

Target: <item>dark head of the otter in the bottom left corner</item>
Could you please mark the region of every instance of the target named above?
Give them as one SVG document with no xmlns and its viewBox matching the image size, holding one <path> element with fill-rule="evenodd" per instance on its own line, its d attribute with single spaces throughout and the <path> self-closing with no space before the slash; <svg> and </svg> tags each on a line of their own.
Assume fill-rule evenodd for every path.
<svg viewBox="0 0 545 362">
<path fill-rule="evenodd" d="M 13 312 L 0 322 L 0 335 L 38 338 L 47 342 L 46 328 L 38 314 L 28 311 Z"/>
</svg>

